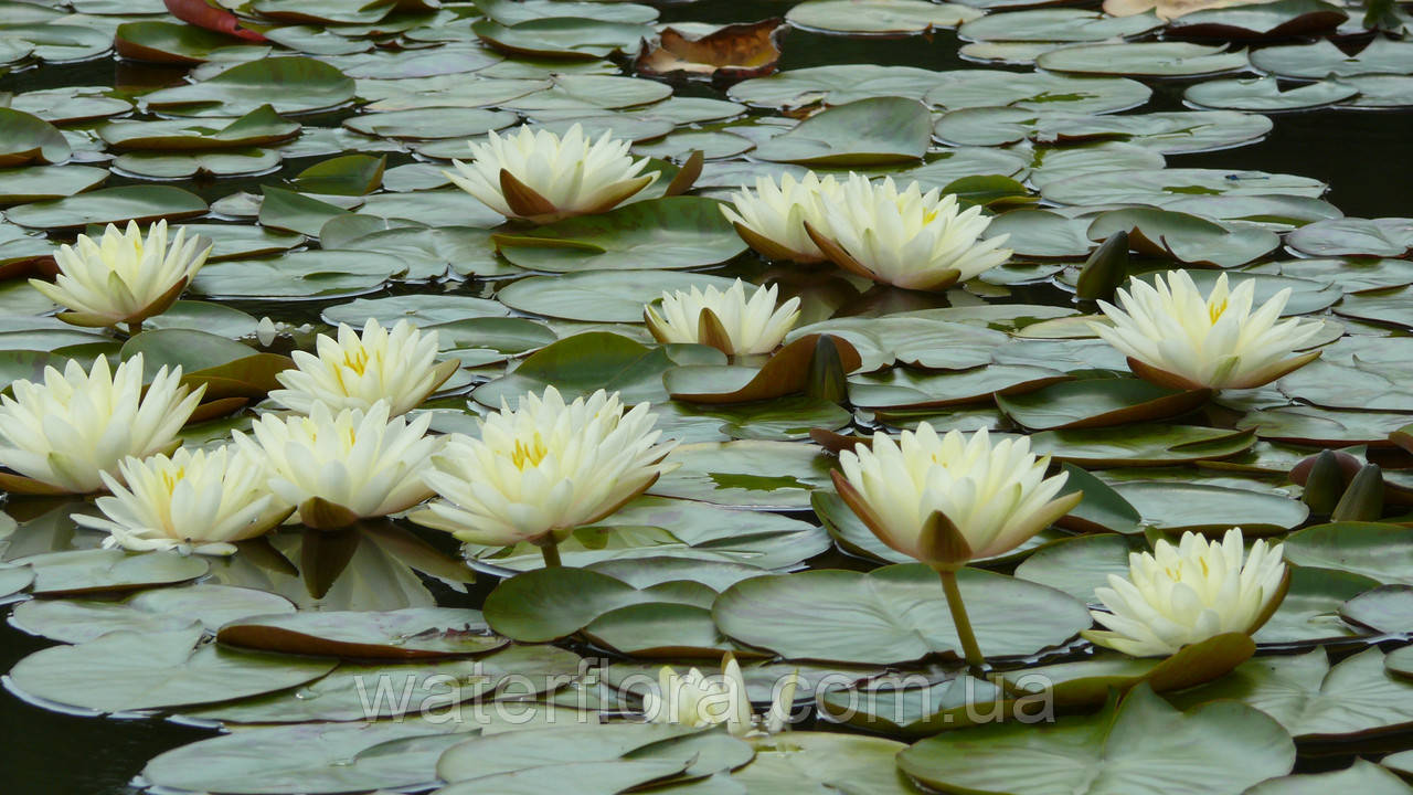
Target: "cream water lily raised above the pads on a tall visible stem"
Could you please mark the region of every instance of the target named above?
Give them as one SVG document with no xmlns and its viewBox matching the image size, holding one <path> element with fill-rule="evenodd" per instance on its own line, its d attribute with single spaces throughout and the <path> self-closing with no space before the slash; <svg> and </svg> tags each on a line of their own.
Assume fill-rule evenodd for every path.
<svg viewBox="0 0 1413 795">
<path fill-rule="evenodd" d="M 986 429 L 938 437 L 928 423 L 894 443 L 839 453 L 839 497 L 887 546 L 935 569 L 1009 552 L 1068 513 L 1081 492 L 1056 497 L 1068 475 L 1046 477 L 1026 437 L 995 446 Z M 950 526 L 948 526 L 950 525 Z M 955 528 L 955 532 L 952 532 Z"/>
</svg>

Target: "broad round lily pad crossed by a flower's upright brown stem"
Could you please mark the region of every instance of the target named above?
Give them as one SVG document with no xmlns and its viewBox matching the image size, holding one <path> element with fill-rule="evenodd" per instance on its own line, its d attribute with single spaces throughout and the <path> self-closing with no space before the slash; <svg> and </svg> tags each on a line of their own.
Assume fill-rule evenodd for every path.
<svg viewBox="0 0 1413 795">
<path fill-rule="evenodd" d="M 1084 605 L 1053 588 L 976 569 L 958 580 L 988 656 L 1034 654 L 1089 627 Z M 890 665 L 958 651 L 937 573 L 917 563 L 755 577 L 722 593 L 712 615 L 728 637 L 788 659 Z"/>
</svg>

